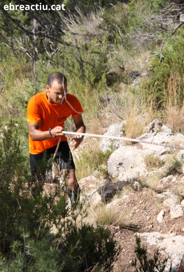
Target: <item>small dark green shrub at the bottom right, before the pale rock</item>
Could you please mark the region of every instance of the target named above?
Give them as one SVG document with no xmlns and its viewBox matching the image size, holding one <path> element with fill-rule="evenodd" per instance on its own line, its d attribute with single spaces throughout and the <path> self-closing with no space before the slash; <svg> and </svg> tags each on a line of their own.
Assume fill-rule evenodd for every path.
<svg viewBox="0 0 184 272">
<path fill-rule="evenodd" d="M 147 256 L 147 248 L 142 245 L 141 246 L 141 239 L 136 235 L 136 245 L 135 248 L 135 255 L 137 258 L 131 261 L 131 265 L 135 267 L 136 272 L 163 272 L 167 266 L 168 258 L 164 258 L 163 261 L 159 260 L 159 250 L 157 249 L 154 253 L 154 257 L 148 259 Z M 137 259 L 139 263 L 137 264 Z M 171 267 L 170 267 L 171 272 Z"/>
</svg>

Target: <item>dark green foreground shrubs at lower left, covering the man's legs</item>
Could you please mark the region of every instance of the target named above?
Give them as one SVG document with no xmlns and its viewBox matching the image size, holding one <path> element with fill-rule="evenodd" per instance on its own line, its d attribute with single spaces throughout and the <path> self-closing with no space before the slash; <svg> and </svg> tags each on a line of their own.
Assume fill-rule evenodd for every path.
<svg viewBox="0 0 184 272">
<path fill-rule="evenodd" d="M 19 134 L 13 123 L 8 128 L 0 140 L 0 269 L 110 271 L 119 250 L 109 232 L 78 226 L 86 216 L 82 204 L 69 209 L 65 182 L 51 186 L 47 175 L 30 176 Z M 42 165 L 51 166 L 52 160 Z"/>
</svg>

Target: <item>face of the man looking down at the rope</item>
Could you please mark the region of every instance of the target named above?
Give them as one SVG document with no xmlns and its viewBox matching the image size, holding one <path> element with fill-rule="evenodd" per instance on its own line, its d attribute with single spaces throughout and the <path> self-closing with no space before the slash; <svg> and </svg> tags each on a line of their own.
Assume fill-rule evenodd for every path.
<svg viewBox="0 0 184 272">
<path fill-rule="evenodd" d="M 67 93 L 67 83 L 64 83 L 65 93 Z M 53 104 L 60 104 L 64 97 L 63 85 L 53 81 L 52 86 L 47 85 L 47 97 L 48 101 Z"/>
</svg>

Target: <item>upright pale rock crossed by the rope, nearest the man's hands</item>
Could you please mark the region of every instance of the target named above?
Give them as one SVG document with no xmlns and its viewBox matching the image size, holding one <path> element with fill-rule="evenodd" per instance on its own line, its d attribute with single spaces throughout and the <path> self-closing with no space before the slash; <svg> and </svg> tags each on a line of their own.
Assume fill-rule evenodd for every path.
<svg viewBox="0 0 184 272">
<path fill-rule="evenodd" d="M 107 132 L 104 134 L 104 136 L 117 136 L 121 137 L 123 136 L 124 129 L 123 127 L 125 126 L 126 121 L 122 122 L 121 124 L 113 124 L 111 125 Z M 111 140 L 108 138 L 102 138 L 101 144 L 100 144 L 100 150 L 103 153 L 106 153 L 107 150 L 111 149 L 117 149 L 120 146 L 121 141 L 120 140 Z"/>
</svg>

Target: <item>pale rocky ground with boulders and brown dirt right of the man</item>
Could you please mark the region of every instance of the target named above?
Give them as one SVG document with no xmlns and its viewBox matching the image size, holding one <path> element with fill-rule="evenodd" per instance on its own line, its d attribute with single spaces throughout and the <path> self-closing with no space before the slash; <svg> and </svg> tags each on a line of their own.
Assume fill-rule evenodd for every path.
<svg viewBox="0 0 184 272">
<path fill-rule="evenodd" d="M 159 120 L 154 122 L 139 139 L 184 146 L 183 135 L 175 135 Z M 121 132 L 121 125 L 116 124 L 110 126 L 106 135 L 118 133 L 121 136 Z M 176 152 L 175 149 L 142 143 L 129 146 L 123 142 L 113 144 L 116 150 L 107 162 L 109 178 L 113 182 L 106 179 L 103 185 L 102 177 L 95 175 L 79 181 L 82 191 L 88 192 L 88 199 L 91 197 L 89 202 L 93 209 L 104 200 L 106 209 L 116 209 L 127 216 L 126 226 L 106 226 L 121 246 L 113 271 L 134 271 L 131 260 L 135 257 L 135 234 L 140 235 L 141 241 L 147 245 L 148 256 L 153 257 L 155 249 L 159 247 L 160 258 L 169 257 L 167 270 L 170 262 L 177 270 L 184 254 L 184 173 L 181 167 L 184 164 L 184 151 Z M 106 152 L 109 141 L 103 139 L 100 147 L 102 152 Z M 148 169 L 145 163 L 148 154 L 161 160 L 162 166 L 156 170 Z M 181 163 L 181 169 L 172 172 L 168 170 L 166 162 L 173 154 Z M 157 182 L 152 184 L 155 176 Z"/>
</svg>

